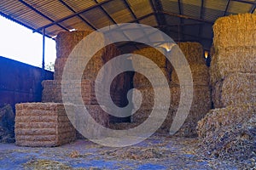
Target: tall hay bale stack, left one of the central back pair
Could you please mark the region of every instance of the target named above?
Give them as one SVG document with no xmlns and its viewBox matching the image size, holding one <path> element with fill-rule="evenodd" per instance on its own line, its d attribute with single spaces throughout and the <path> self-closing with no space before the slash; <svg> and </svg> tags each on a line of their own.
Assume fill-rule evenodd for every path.
<svg viewBox="0 0 256 170">
<path fill-rule="evenodd" d="M 168 82 L 167 86 L 169 86 L 169 83 L 171 82 L 170 74 L 172 72 L 172 66 L 168 62 L 168 59 L 166 59 L 165 55 L 161 54 L 160 51 L 155 48 L 142 48 L 134 51 L 134 54 L 139 54 L 147 57 L 148 59 L 151 59 L 154 64 L 158 65 L 158 67 L 166 77 L 166 82 Z M 163 80 L 161 80 L 160 77 L 155 77 L 154 71 L 156 68 L 154 68 L 154 65 L 148 65 L 143 62 L 133 62 L 133 65 L 136 65 L 137 68 L 141 68 L 144 71 L 148 71 L 149 73 L 152 72 L 152 74 L 150 74 L 151 77 L 148 78 L 138 72 L 135 72 L 133 77 L 133 87 L 140 90 L 140 92 L 143 94 L 143 103 L 137 113 L 131 116 L 131 122 L 133 122 L 134 124 L 140 124 L 148 118 L 154 105 L 154 88 L 152 87 L 148 79 L 157 80 L 156 82 L 158 82 L 158 86 L 156 88 L 159 89 L 166 86 L 166 84 L 164 84 Z M 137 97 L 135 96 L 135 94 L 133 95 L 134 96 L 132 102 L 134 105 L 138 105 Z"/>
</svg>

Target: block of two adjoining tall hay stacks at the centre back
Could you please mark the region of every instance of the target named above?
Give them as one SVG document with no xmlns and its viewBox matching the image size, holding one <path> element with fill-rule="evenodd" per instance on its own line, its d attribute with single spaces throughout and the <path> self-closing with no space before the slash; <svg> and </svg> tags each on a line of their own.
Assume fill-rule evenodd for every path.
<svg viewBox="0 0 256 170">
<path fill-rule="evenodd" d="M 177 135 L 179 136 L 195 136 L 196 130 L 195 127 L 197 122 L 201 120 L 203 116 L 207 114 L 207 111 L 211 109 L 211 98 L 210 98 L 210 88 L 209 88 L 209 73 L 206 65 L 206 61 L 203 58 L 203 49 L 201 44 L 197 42 L 181 42 L 178 43 L 178 46 L 183 51 L 186 59 L 189 62 L 190 69 L 192 71 L 193 81 L 194 81 L 194 98 L 192 103 L 191 111 L 189 116 L 184 123 L 182 129 L 180 129 Z M 168 62 L 166 57 L 163 54 L 160 54 L 157 49 L 154 48 L 143 48 L 134 52 L 135 54 L 141 54 L 148 59 L 154 61 L 158 65 L 161 71 L 166 76 L 166 80 L 169 83 L 170 92 L 171 92 L 171 107 L 169 109 L 168 115 L 166 116 L 165 122 L 159 128 L 159 133 L 168 133 L 172 125 L 173 117 L 177 112 L 177 107 L 179 104 L 180 96 L 180 84 L 177 78 L 175 71 L 172 71 L 172 65 Z M 154 72 L 154 68 L 151 68 L 150 65 L 145 65 L 144 63 L 136 63 L 145 69 L 148 69 L 148 72 Z M 178 69 L 183 70 L 183 65 Z M 186 73 L 184 73 L 186 74 Z M 154 74 L 152 74 L 154 76 Z M 149 77 L 154 78 L 159 82 L 159 86 L 156 87 L 158 90 L 164 89 L 162 80 L 159 77 Z M 144 122 L 150 115 L 153 105 L 154 105 L 154 88 L 151 86 L 150 82 L 146 77 L 139 73 L 135 73 L 133 78 L 133 86 L 140 90 L 143 94 L 143 103 L 140 109 L 136 114 L 132 116 L 132 122 L 135 124 Z M 161 103 L 165 104 L 163 98 Z M 136 99 L 133 100 L 134 104 L 137 105 Z M 158 111 L 161 111 L 161 105 L 158 105 Z"/>
</svg>

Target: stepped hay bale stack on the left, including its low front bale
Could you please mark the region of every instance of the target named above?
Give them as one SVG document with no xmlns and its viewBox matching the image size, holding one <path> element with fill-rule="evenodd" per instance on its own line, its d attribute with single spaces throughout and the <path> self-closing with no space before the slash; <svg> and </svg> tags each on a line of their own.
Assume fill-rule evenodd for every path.
<svg viewBox="0 0 256 170">
<path fill-rule="evenodd" d="M 42 82 L 44 88 L 42 102 L 44 103 L 16 105 L 16 144 L 26 146 L 56 146 L 72 142 L 74 139 L 81 137 L 80 135 L 76 136 L 76 131 L 69 122 L 62 104 L 61 78 L 69 54 L 91 32 L 73 31 L 58 34 L 56 39 L 57 57 L 55 59 L 54 80 Z M 79 80 L 81 84 L 75 84 L 73 87 L 70 87 L 70 90 L 74 94 L 79 90 L 79 86 L 81 87 L 84 105 L 86 105 L 86 108 L 95 121 L 104 127 L 108 127 L 109 125 L 109 116 L 108 113 L 102 111 L 101 106 L 96 101 L 95 80 L 102 65 L 119 54 L 119 50 L 114 45 L 108 45 L 102 48 L 90 59 L 84 68 L 83 76 Z M 108 77 L 108 73 L 104 76 Z M 78 80 L 73 81 L 78 82 Z M 125 91 L 124 88 L 127 88 L 127 81 L 125 81 L 125 74 L 122 74 L 112 82 L 110 93 L 113 94 L 112 99 L 116 105 L 122 105 L 122 92 Z M 79 106 L 81 105 L 75 99 L 74 97 L 72 100 L 73 104 L 69 107 L 74 112 L 79 111 Z M 98 132 L 97 128 L 92 127 L 87 130 L 90 133 L 96 134 L 96 137 L 101 136 L 101 132 Z"/>
</svg>

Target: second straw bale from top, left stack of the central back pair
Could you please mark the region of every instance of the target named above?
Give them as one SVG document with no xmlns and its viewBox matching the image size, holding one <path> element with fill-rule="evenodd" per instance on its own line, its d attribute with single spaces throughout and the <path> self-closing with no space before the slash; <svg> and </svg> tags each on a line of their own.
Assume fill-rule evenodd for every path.
<svg viewBox="0 0 256 170">
<path fill-rule="evenodd" d="M 165 82 L 171 82 L 171 76 L 169 71 L 167 71 L 165 68 L 160 69 L 163 74 L 166 77 L 166 80 L 162 80 L 160 77 L 156 77 L 154 74 L 154 71 L 156 71 L 156 69 L 150 69 L 148 70 L 148 72 L 151 72 L 152 74 L 151 77 L 146 78 L 145 76 L 143 76 L 142 74 L 135 72 L 134 77 L 133 77 L 133 87 L 134 88 L 146 88 L 146 87 L 151 87 L 151 82 L 149 82 L 149 80 L 154 80 L 155 82 L 157 82 L 157 86 L 166 86 Z"/>
</svg>

